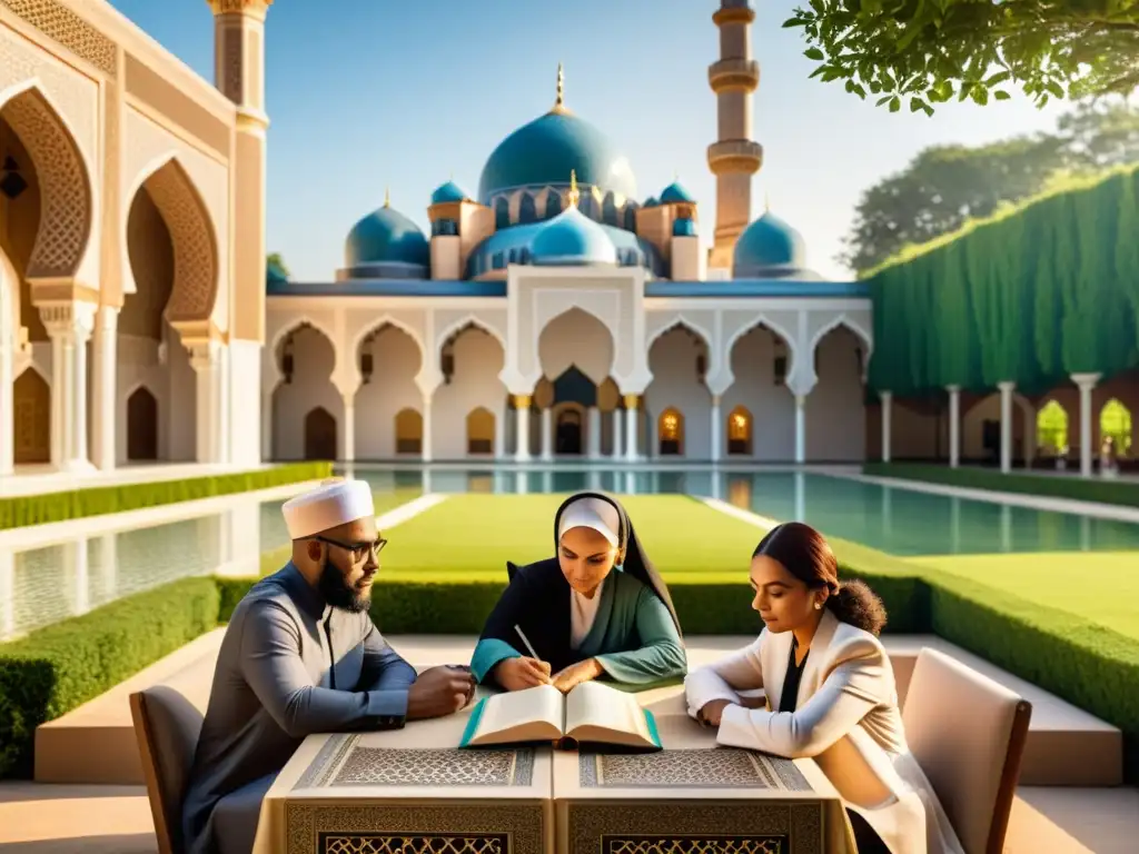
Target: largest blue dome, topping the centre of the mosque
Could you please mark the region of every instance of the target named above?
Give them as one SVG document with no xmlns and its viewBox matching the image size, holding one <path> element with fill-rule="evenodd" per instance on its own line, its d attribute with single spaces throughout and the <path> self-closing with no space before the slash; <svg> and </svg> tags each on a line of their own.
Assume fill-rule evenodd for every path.
<svg viewBox="0 0 1139 854">
<path fill-rule="evenodd" d="M 486 205 L 493 196 L 522 187 L 562 186 L 571 171 L 580 184 L 625 198 L 637 195 L 629 158 L 589 122 L 555 109 L 499 143 L 483 166 L 478 200 Z"/>
</svg>

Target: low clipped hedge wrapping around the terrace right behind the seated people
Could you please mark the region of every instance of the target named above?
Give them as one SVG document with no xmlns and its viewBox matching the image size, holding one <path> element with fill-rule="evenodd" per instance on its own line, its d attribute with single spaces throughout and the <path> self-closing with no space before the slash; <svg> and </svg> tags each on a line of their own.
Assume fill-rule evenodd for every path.
<svg viewBox="0 0 1139 854">
<path fill-rule="evenodd" d="M 1139 781 L 1139 643 L 1080 618 L 968 580 L 885 566 L 852 567 L 885 602 L 887 633 L 936 633 L 1118 726 L 1124 775 Z M 893 561 L 901 564 L 901 561 Z M 229 619 L 254 578 L 189 578 L 112 602 L 0 644 L 0 778 L 32 771 L 35 728 L 75 708 Z M 506 584 L 400 582 L 376 586 L 372 617 L 390 634 L 477 634 Z M 670 583 L 687 634 L 754 634 L 759 618 L 739 583 Z"/>
</svg>

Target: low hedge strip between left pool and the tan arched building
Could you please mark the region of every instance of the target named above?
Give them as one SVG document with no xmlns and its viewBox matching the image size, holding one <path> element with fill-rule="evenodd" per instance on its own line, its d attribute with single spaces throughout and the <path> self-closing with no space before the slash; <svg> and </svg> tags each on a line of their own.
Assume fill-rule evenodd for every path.
<svg viewBox="0 0 1139 854">
<path fill-rule="evenodd" d="M 185 481 L 124 483 L 114 486 L 88 486 L 41 495 L 13 495 L 0 499 L 0 531 L 24 525 L 66 522 L 87 516 L 103 516 L 141 510 L 179 501 L 268 490 L 304 481 L 319 481 L 333 474 L 330 462 L 294 462 L 231 475 L 207 475 Z"/>
</svg>

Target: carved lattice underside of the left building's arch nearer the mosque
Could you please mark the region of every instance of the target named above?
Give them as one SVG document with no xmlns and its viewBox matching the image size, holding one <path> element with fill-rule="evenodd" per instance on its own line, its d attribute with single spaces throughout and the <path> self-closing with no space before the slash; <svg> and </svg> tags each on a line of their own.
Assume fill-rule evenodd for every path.
<svg viewBox="0 0 1139 854">
<path fill-rule="evenodd" d="M 144 184 L 170 231 L 174 285 L 166 304 L 171 323 L 208 320 L 218 298 L 218 243 L 186 170 L 167 161 Z"/>
</svg>

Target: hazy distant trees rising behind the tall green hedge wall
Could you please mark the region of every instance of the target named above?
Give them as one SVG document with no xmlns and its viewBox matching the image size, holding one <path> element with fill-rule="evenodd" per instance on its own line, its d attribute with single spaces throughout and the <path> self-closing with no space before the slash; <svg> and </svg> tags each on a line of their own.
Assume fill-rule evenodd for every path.
<svg viewBox="0 0 1139 854">
<path fill-rule="evenodd" d="M 934 146 L 868 189 L 838 261 L 857 273 L 1038 196 L 1068 176 L 1139 162 L 1139 109 L 1082 102 L 1052 133 L 980 147 Z"/>
</svg>

